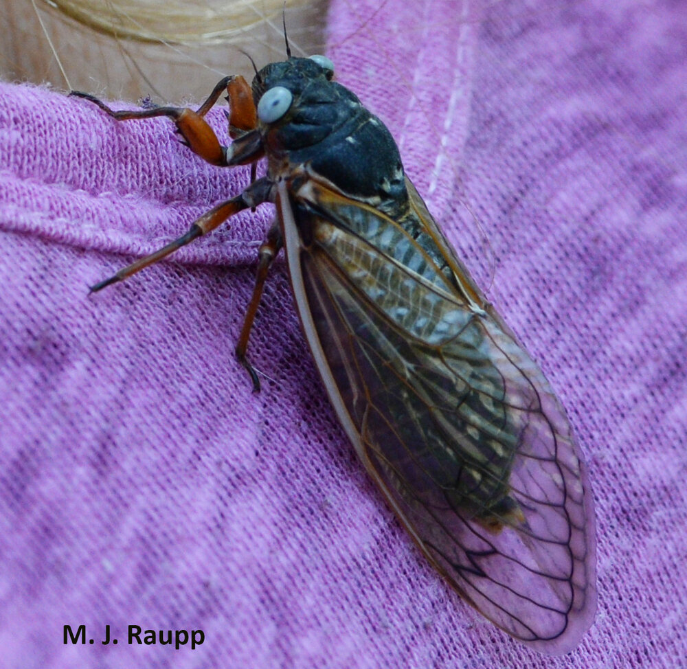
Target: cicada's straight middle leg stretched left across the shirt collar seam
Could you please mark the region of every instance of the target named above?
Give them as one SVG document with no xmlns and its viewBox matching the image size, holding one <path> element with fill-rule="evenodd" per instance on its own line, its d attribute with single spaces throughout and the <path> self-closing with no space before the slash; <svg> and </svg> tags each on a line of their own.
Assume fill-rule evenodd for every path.
<svg viewBox="0 0 687 669">
<path fill-rule="evenodd" d="M 158 260 L 169 256 L 170 253 L 173 253 L 177 249 L 181 249 L 181 247 L 189 244 L 201 235 L 204 235 L 206 232 L 214 230 L 218 225 L 221 225 L 221 223 L 227 220 L 229 216 L 234 216 L 234 214 L 242 212 L 243 209 L 257 207 L 263 202 L 270 202 L 272 200 L 272 188 L 272 182 L 269 181 L 267 177 L 262 177 L 262 179 L 254 181 L 254 183 L 251 183 L 248 188 L 236 197 L 216 205 L 216 207 L 210 209 L 209 212 L 205 212 L 200 218 L 196 218 L 188 231 L 181 237 L 175 239 L 161 249 L 158 249 L 154 253 L 150 253 L 149 256 L 132 262 L 108 279 L 91 286 L 91 293 L 100 291 L 105 286 L 117 283 L 118 281 L 128 279 L 128 277 L 141 271 L 145 267 L 155 264 Z"/>
</svg>

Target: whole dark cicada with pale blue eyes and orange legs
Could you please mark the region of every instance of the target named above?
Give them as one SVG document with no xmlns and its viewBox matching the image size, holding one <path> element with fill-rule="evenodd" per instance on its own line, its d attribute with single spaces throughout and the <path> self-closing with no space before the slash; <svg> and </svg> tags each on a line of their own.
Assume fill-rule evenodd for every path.
<svg viewBox="0 0 687 669">
<path fill-rule="evenodd" d="M 471 279 L 405 176 L 385 125 L 333 78 L 324 56 L 219 82 L 169 117 L 221 167 L 267 158 L 265 176 L 194 221 L 99 290 L 273 203 L 236 353 L 282 249 L 324 387 L 360 460 L 430 563 L 478 611 L 545 653 L 576 646 L 596 609 L 594 510 L 565 411 L 517 337 Z M 227 91 L 223 146 L 205 115 Z"/>
</svg>

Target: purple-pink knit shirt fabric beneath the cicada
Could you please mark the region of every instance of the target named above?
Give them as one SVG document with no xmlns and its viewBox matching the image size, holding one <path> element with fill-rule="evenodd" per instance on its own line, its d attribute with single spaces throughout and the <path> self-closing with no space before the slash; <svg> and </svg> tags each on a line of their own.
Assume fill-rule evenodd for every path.
<svg viewBox="0 0 687 669">
<path fill-rule="evenodd" d="M 570 412 L 598 514 L 581 646 L 523 648 L 427 566 L 335 420 L 283 262 L 251 393 L 233 349 L 269 207 L 87 295 L 245 170 L 2 84 L 0 667 L 684 666 L 687 11 L 483 4 L 334 0 L 330 56 Z M 129 646 L 129 624 L 205 642 Z"/>
</svg>

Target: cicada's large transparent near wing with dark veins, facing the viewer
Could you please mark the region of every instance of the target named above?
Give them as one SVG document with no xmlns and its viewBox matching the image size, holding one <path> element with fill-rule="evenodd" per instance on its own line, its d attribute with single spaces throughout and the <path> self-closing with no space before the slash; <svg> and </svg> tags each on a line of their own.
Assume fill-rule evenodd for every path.
<svg viewBox="0 0 687 669">
<path fill-rule="evenodd" d="M 324 188 L 298 199 L 282 186 L 280 211 L 297 307 L 343 426 L 466 600 L 544 652 L 574 648 L 596 608 L 594 519 L 565 412 L 517 341 L 451 288 L 436 249 L 339 194 L 323 211 Z"/>
</svg>

